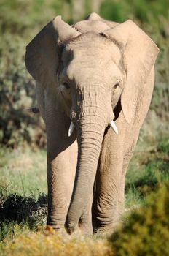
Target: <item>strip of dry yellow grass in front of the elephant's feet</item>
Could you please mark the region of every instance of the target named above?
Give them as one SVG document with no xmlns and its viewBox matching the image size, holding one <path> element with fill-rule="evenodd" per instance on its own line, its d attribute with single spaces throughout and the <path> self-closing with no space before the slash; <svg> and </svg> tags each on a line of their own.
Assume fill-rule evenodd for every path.
<svg viewBox="0 0 169 256">
<path fill-rule="evenodd" d="M 93 239 L 87 236 L 68 236 L 55 233 L 52 227 L 33 233 L 25 231 L 12 239 L 6 241 L 2 248 L 3 255 L 84 255 L 84 256 L 109 256 L 111 248 L 106 238 Z"/>
</svg>

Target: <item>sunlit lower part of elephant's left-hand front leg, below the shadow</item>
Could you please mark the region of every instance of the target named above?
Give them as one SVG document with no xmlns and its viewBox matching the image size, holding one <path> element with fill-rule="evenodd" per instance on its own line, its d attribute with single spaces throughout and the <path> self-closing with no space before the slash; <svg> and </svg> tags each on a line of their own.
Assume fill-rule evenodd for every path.
<svg viewBox="0 0 169 256">
<path fill-rule="evenodd" d="M 71 200 L 76 165 L 68 164 L 68 153 L 61 153 L 47 162 L 48 216 L 47 225 L 62 230 Z M 68 166 L 68 165 L 69 166 Z"/>
</svg>

